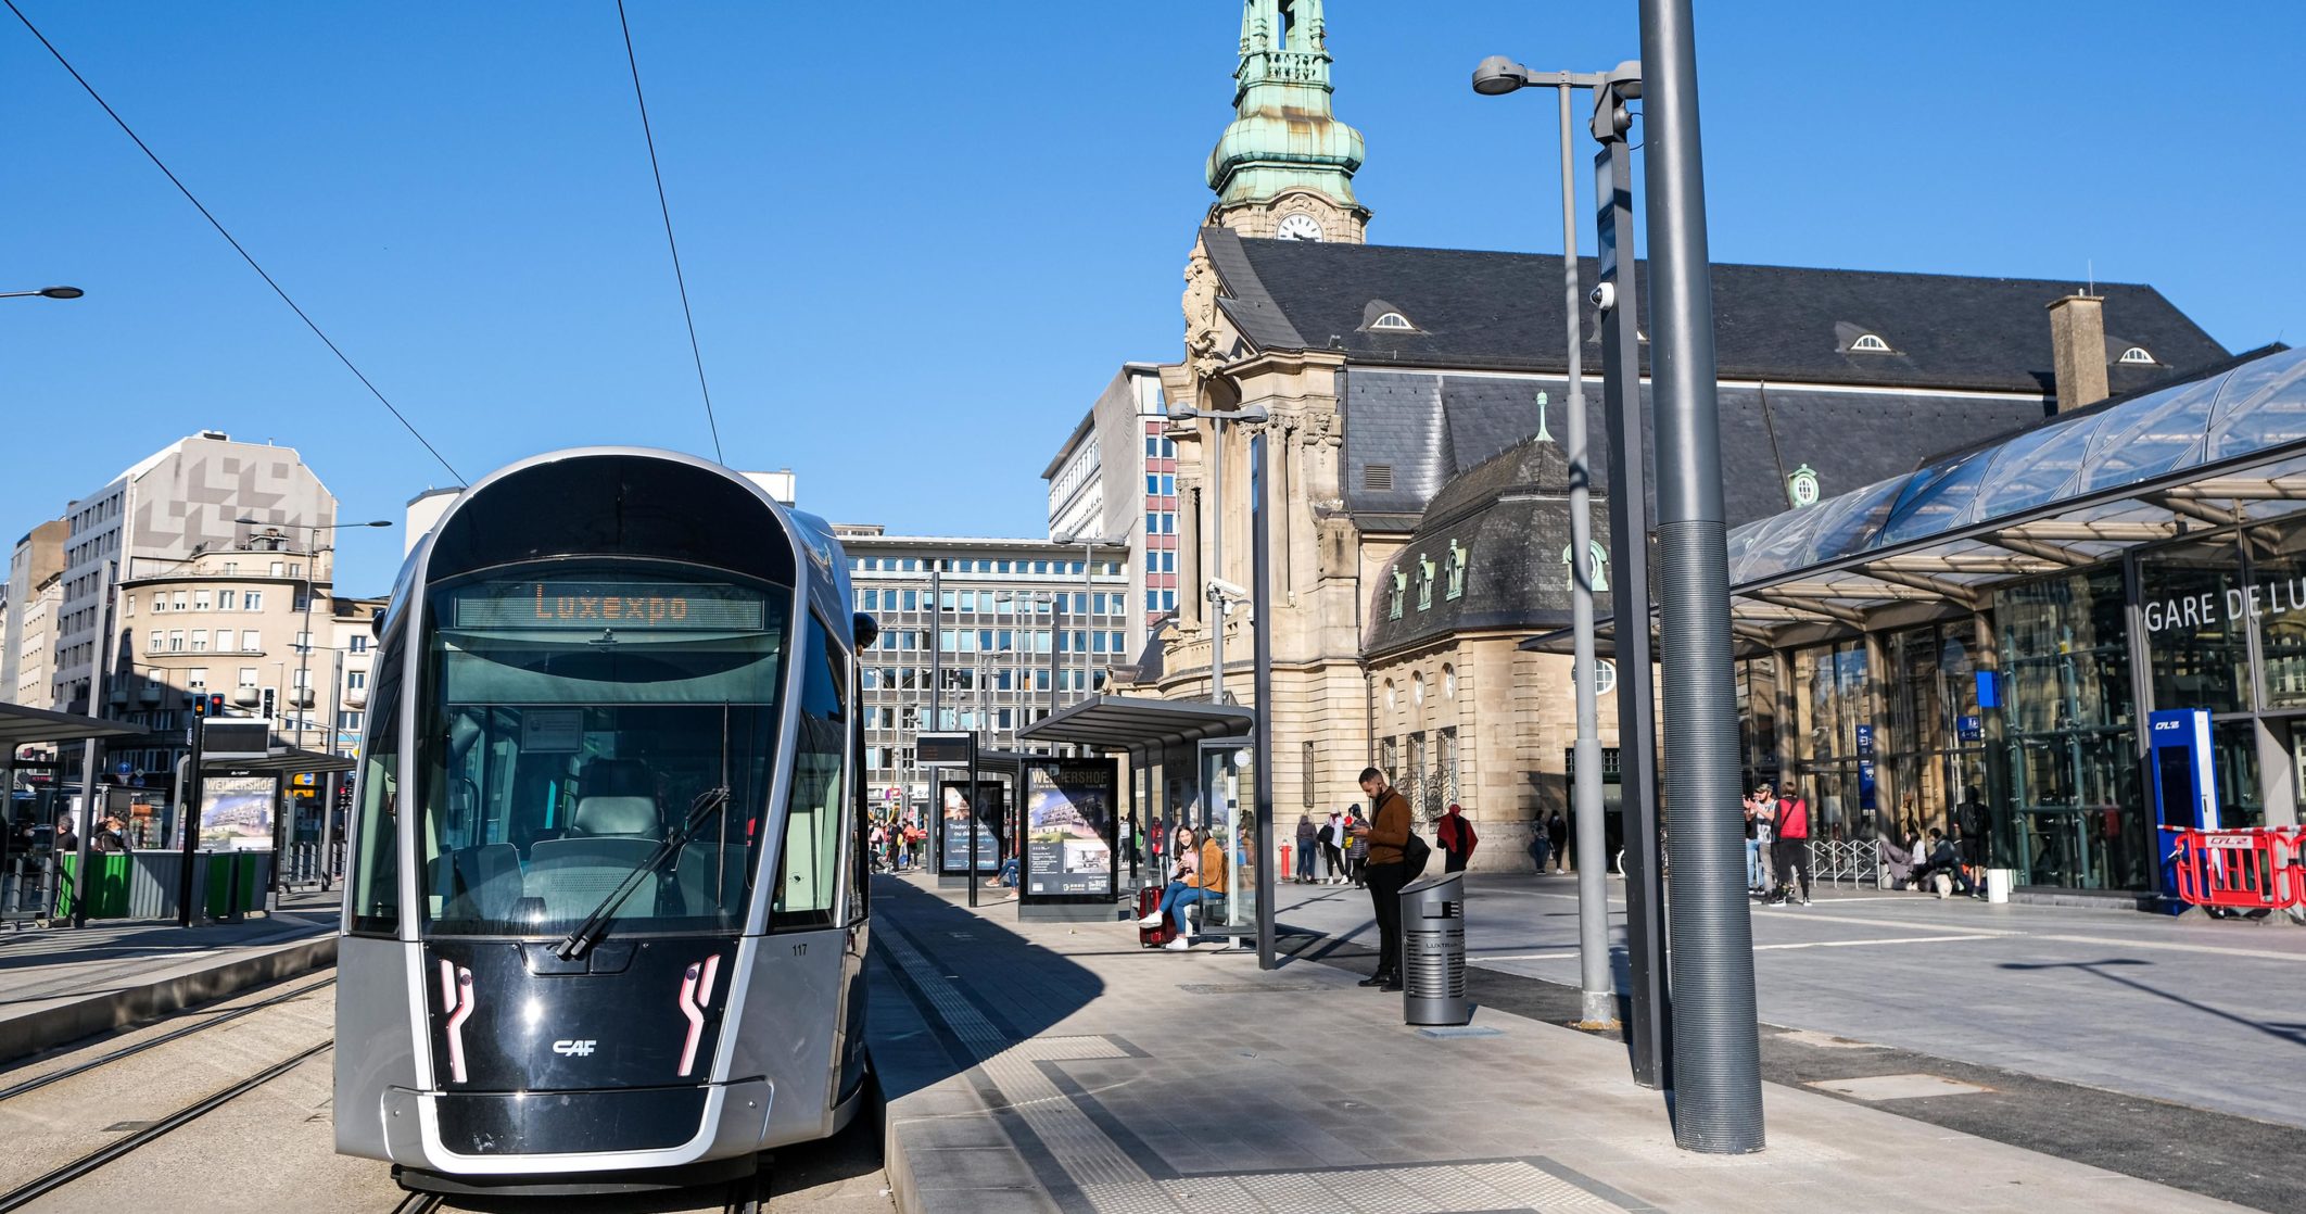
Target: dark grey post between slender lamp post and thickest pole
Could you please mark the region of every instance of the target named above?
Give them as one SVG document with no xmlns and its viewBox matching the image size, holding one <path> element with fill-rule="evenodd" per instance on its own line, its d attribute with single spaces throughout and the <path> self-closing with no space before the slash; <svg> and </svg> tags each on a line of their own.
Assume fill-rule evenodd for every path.
<svg viewBox="0 0 2306 1214">
<path fill-rule="evenodd" d="M 1619 789 L 1626 831 L 1626 960 L 1633 974 L 1633 1022 L 1626 1046 L 1633 1080 L 1670 1087 L 1665 1025 L 1672 1018 L 1665 988 L 1665 902 L 1658 886 L 1658 748 L 1656 699 L 1649 669 L 1649 457 L 1642 450 L 1642 337 L 1633 270 L 1633 155 L 1626 148 L 1623 111 L 1640 95 L 1640 65 L 1614 67 L 1593 92 L 1593 157 L 1598 194 L 1600 282 L 1612 295 L 1600 330 L 1603 411 L 1610 418 L 1610 554 L 1617 577 L 1617 739 Z"/>
</svg>

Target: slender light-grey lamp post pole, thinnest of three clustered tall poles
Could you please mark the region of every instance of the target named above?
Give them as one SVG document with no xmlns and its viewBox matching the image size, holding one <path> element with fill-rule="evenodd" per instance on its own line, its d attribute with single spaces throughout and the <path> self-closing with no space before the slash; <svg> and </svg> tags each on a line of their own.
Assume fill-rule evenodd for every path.
<svg viewBox="0 0 2306 1214">
<path fill-rule="evenodd" d="M 1570 803 L 1577 819 L 1577 986 L 1589 1027 L 1617 1025 L 1617 974 L 1610 965 L 1610 845 L 1600 819 L 1600 711 L 1593 658 L 1593 469 L 1587 464 L 1584 295 L 1577 291 L 1577 168 L 1570 157 L 1570 88 L 1561 102 L 1561 309 L 1568 316 L 1568 464 L 1570 464 L 1570 632 L 1577 683 L 1577 741 Z M 1540 822 L 1543 831 L 1545 824 Z"/>
</svg>

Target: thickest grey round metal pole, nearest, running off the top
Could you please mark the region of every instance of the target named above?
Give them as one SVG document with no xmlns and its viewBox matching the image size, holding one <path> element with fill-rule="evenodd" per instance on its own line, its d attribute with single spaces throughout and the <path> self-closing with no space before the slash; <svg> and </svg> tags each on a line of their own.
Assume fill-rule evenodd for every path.
<svg viewBox="0 0 2306 1214">
<path fill-rule="evenodd" d="M 1642 0 L 1649 145 L 1651 376 L 1658 425 L 1658 572 L 1665 589 L 1667 847 L 1674 863 L 1674 1142 L 1759 1152 L 1762 1043 L 1753 921 L 1739 838 L 1739 745 L 1730 644 L 1713 365 L 1713 275 L 1697 141 L 1690 0 Z M 1630 623 L 1630 621 L 1628 621 Z"/>
</svg>

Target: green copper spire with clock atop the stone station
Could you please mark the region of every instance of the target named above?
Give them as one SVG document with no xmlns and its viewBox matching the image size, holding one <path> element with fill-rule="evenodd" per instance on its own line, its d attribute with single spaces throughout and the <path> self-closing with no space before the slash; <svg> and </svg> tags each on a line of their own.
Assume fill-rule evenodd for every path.
<svg viewBox="0 0 2306 1214">
<path fill-rule="evenodd" d="M 1208 152 L 1208 224 L 1241 235 L 1358 245 L 1361 132 L 1328 113 L 1321 0 L 1243 0 L 1234 122 Z"/>
</svg>

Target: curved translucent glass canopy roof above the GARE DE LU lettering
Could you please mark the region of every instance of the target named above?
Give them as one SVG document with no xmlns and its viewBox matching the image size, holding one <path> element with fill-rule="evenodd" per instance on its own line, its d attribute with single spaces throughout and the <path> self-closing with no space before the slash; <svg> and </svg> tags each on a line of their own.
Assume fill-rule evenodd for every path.
<svg viewBox="0 0 2306 1214">
<path fill-rule="evenodd" d="M 2002 582 L 2299 510 L 2306 351 L 2278 349 L 1734 529 L 1732 625 L 1753 651 L 1898 605 L 1974 612 Z M 1568 646 L 1568 630 L 1522 642 Z"/>
</svg>

